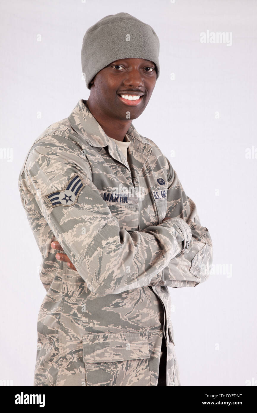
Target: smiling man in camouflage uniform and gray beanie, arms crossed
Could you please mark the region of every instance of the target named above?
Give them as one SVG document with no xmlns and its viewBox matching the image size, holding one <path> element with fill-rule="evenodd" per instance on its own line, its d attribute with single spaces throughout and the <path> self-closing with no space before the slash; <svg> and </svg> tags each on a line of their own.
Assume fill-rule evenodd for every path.
<svg viewBox="0 0 257 413">
<path fill-rule="evenodd" d="M 159 40 L 118 13 L 87 30 L 81 55 L 90 97 L 38 137 L 19 176 L 47 291 L 34 385 L 180 386 L 167 287 L 207 279 L 212 240 L 132 125 L 159 76 Z"/>
</svg>

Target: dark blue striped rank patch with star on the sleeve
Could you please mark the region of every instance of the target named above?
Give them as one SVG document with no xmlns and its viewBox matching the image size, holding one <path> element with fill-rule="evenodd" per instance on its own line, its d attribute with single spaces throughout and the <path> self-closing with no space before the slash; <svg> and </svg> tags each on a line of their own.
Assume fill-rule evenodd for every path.
<svg viewBox="0 0 257 413">
<path fill-rule="evenodd" d="M 52 207 L 57 207 L 58 205 L 71 207 L 71 205 L 74 205 L 77 201 L 78 195 L 84 186 L 80 176 L 76 173 L 76 175 L 73 175 L 68 181 L 63 190 L 54 191 L 45 196 Z"/>
</svg>

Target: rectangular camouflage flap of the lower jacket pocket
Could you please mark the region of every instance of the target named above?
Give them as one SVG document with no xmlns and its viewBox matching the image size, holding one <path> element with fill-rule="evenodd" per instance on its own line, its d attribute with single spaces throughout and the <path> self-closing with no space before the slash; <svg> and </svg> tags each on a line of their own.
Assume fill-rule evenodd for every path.
<svg viewBox="0 0 257 413">
<path fill-rule="evenodd" d="M 84 363 L 104 363 L 150 357 L 146 332 L 87 334 L 82 339 Z"/>
</svg>

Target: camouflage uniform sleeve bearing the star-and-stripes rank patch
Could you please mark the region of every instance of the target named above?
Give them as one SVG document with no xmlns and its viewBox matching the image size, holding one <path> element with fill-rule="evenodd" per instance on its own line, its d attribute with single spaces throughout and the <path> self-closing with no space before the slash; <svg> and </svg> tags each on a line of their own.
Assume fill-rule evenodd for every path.
<svg viewBox="0 0 257 413">
<path fill-rule="evenodd" d="M 26 185 L 87 287 L 105 295 L 158 284 L 163 268 L 182 249 L 177 224 L 167 220 L 149 231 L 120 230 L 92 182 L 87 158 L 82 168 L 75 156 L 57 152 L 31 150 Z"/>
</svg>

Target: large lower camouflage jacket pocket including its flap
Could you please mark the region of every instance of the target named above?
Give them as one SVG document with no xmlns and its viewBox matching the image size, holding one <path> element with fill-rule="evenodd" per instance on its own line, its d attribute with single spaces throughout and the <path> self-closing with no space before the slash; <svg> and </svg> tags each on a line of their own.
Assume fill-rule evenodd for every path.
<svg viewBox="0 0 257 413">
<path fill-rule="evenodd" d="M 146 332 L 89 333 L 82 339 L 86 386 L 151 386 Z"/>
</svg>

